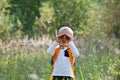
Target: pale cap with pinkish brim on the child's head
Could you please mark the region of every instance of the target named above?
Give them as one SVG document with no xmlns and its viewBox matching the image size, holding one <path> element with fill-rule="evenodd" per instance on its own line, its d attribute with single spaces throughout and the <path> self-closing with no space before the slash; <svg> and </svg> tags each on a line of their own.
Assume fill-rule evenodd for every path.
<svg viewBox="0 0 120 80">
<path fill-rule="evenodd" d="M 68 37 L 73 39 L 73 31 L 71 28 L 65 26 L 65 27 L 61 27 L 58 31 L 58 37 L 61 35 L 66 34 Z"/>
</svg>

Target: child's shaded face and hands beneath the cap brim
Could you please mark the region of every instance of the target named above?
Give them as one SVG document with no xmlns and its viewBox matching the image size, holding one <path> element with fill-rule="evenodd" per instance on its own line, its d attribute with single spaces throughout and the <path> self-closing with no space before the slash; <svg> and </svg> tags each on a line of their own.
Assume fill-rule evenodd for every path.
<svg viewBox="0 0 120 80">
<path fill-rule="evenodd" d="M 67 47 L 68 46 L 68 42 L 70 41 L 70 37 L 68 37 L 67 35 L 61 35 L 58 37 L 59 39 L 59 43 L 60 45 Z"/>
</svg>

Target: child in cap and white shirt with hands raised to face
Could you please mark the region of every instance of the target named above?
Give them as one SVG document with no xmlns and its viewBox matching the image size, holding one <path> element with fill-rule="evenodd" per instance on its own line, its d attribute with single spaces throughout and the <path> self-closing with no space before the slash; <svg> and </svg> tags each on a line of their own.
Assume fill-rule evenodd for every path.
<svg viewBox="0 0 120 80">
<path fill-rule="evenodd" d="M 59 29 L 56 41 L 47 49 L 52 55 L 52 77 L 50 80 L 75 80 L 74 62 L 79 56 L 78 49 L 73 43 L 73 31 L 69 27 Z"/>
</svg>

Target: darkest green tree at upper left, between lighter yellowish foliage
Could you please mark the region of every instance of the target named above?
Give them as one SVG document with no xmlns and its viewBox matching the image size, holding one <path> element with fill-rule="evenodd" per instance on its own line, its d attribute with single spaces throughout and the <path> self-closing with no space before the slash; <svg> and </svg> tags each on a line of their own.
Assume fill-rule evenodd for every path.
<svg viewBox="0 0 120 80">
<path fill-rule="evenodd" d="M 41 6 L 41 0 L 9 0 L 10 7 L 7 7 L 7 10 L 10 10 L 10 15 L 14 15 L 14 28 L 13 32 L 21 30 L 24 34 L 31 36 L 34 34 L 32 25 L 35 22 L 36 17 L 40 17 L 39 7 Z M 18 21 L 21 23 L 21 26 L 18 26 Z"/>
</svg>

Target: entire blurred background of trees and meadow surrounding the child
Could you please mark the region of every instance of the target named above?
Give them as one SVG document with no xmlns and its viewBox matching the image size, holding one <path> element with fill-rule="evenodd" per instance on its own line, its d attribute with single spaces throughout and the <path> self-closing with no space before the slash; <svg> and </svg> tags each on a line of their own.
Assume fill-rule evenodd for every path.
<svg viewBox="0 0 120 80">
<path fill-rule="evenodd" d="M 120 80 L 119 10 L 120 0 L 1 0 L 0 80 L 48 80 L 45 53 L 61 26 L 81 53 L 77 80 Z"/>
</svg>

